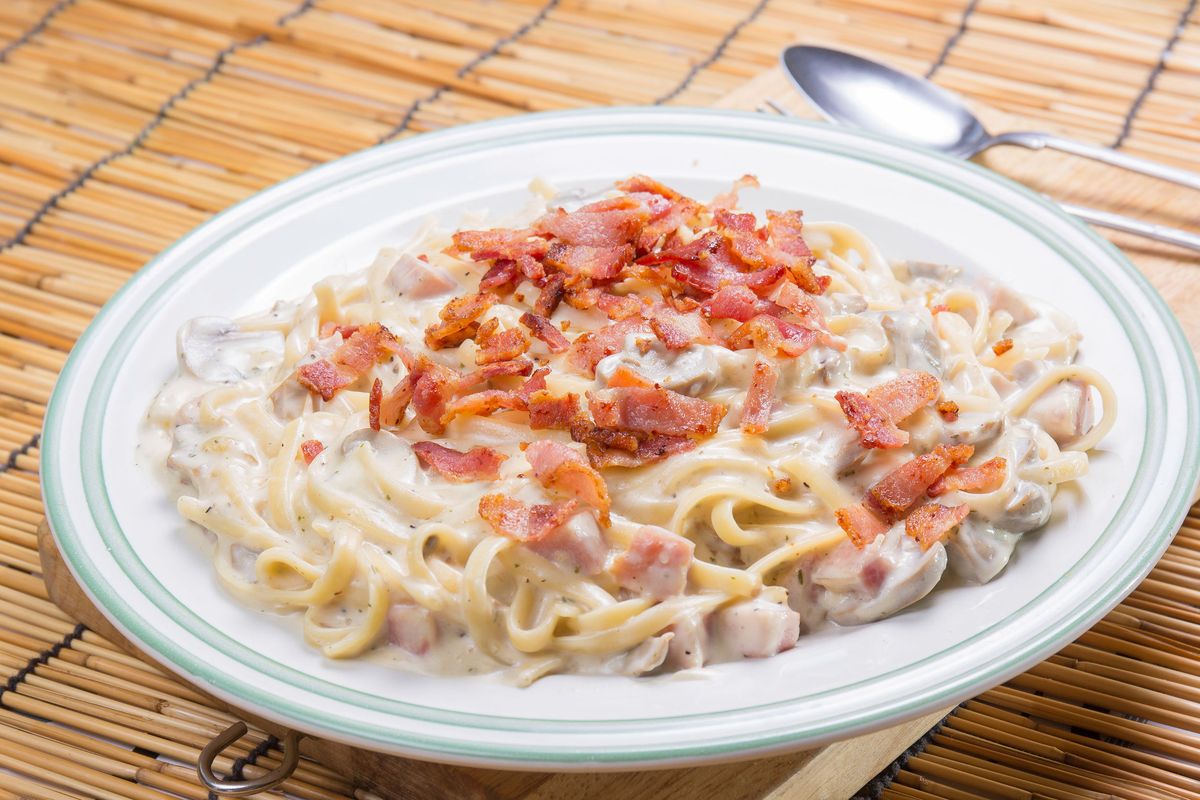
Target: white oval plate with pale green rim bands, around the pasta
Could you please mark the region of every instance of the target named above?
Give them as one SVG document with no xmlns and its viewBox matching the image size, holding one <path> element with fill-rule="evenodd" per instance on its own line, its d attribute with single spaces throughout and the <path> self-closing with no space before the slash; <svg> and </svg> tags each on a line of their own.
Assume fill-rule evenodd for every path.
<svg viewBox="0 0 1200 800">
<path fill-rule="evenodd" d="M 860 227 L 893 259 L 967 264 L 1079 321 L 1120 396 L 1091 474 L 1066 487 L 985 587 L 935 591 L 872 625 L 808 637 L 708 678 L 556 675 L 529 688 L 331 662 L 287 620 L 222 593 L 134 434 L 174 369 L 179 324 L 235 315 L 366 265 L 430 215 L 512 209 L 534 176 L 598 188 L 644 172 L 701 198 L 743 173 L 757 211 Z M 433 760 L 618 769 L 732 759 L 846 738 L 1030 667 L 1130 591 L 1198 475 L 1196 371 L 1178 325 L 1110 245 L 972 164 L 763 115 L 608 109 L 464 126 L 368 150 L 218 215 L 155 259 L 76 345 L 46 422 L 42 481 L 62 554 L 96 604 L 203 688 L 299 730 Z"/>
</svg>

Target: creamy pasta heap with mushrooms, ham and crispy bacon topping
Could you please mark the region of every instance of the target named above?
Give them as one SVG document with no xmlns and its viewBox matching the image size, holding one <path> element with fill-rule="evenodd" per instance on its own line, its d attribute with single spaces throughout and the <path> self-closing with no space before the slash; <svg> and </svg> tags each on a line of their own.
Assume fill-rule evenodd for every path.
<svg viewBox="0 0 1200 800">
<path fill-rule="evenodd" d="M 179 333 L 143 434 L 331 658 L 659 674 L 984 583 L 1114 423 L 1049 305 L 637 175 Z M 911 612 L 918 613 L 919 609 Z"/>
</svg>

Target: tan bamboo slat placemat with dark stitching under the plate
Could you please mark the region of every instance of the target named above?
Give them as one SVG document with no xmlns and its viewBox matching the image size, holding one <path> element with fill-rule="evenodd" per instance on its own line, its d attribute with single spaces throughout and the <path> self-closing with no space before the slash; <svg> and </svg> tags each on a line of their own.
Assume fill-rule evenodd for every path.
<svg viewBox="0 0 1200 800">
<path fill-rule="evenodd" d="M 4 0 L 0 800 L 205 798 L 191 765 L 229 716 L 48 602 L 35 531 L 37 431 L 66 351 L 133 270 L 215 211 L 312 164 L 421 131 L 589 104 L 712 104 L 793 42 L 858 49 L 1044 126 L 1200 168 L 1194 6 Z M 725 102 L 754 107 L 764 89 L 760 83 Z M 1051 178 L 1067 173 L 1042 161 L 997 156 L 995 163 L 1058 197 L 1097 203 L 1086 169 L 1056 184 Z M 1110 181 L 1114 210 L 1195 228 L 1194 197 L 1122 194 L 1127 179 L 1097 174 L 1097 181 Z M 1195 259 L 1183 264 L 1178 253 L 1117 241 L 1177 311 L 1189 308 Z M 1184 324 L 1195 345 L 1200 309 L 1190 308 Z M 1196 577 L 1194 511 L 1117 610 L 958 709 L 864 792 L 910 800 L 1200 795 Z M 265 771 L 278 763 L 274 744 L 252 733 L 217 768 Z M 492 790 L 498 798 L 820 792 L 763 763 L 748 765 L 744 781 L 707 789 L 666 775 L 674 776 L 514 780 Z M 354 792 L 312 762 L 286 788 L 320 800 Z"/>
</svg>

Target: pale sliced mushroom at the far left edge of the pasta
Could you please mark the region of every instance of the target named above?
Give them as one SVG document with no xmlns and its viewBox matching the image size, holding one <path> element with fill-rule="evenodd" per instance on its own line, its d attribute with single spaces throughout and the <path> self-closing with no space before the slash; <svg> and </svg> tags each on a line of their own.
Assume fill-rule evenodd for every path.
<svg viewBox="0 0 1200 800">
<path fill-rule="evenodd" d="M 244 380 L 274 371 L 283 361 L 283 335 L 278 331 L 242 331 L 223 317 L 198 317 L 179 329 L 179 362 L 215 384 Z"/>
</svg>

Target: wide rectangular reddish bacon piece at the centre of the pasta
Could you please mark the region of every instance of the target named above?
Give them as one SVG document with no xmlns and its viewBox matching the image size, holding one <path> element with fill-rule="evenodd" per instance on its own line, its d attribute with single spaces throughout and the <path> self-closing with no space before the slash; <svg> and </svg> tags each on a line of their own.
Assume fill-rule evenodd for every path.
<svg viewBox="0 0 1200 800">
<path fill-rule="evenodd" d="M 716 433 L 726 408 L 670 389 L 624 386 L 588 393 L 592 419 L 601 428 L 671 437 Z"/>
</svg>

